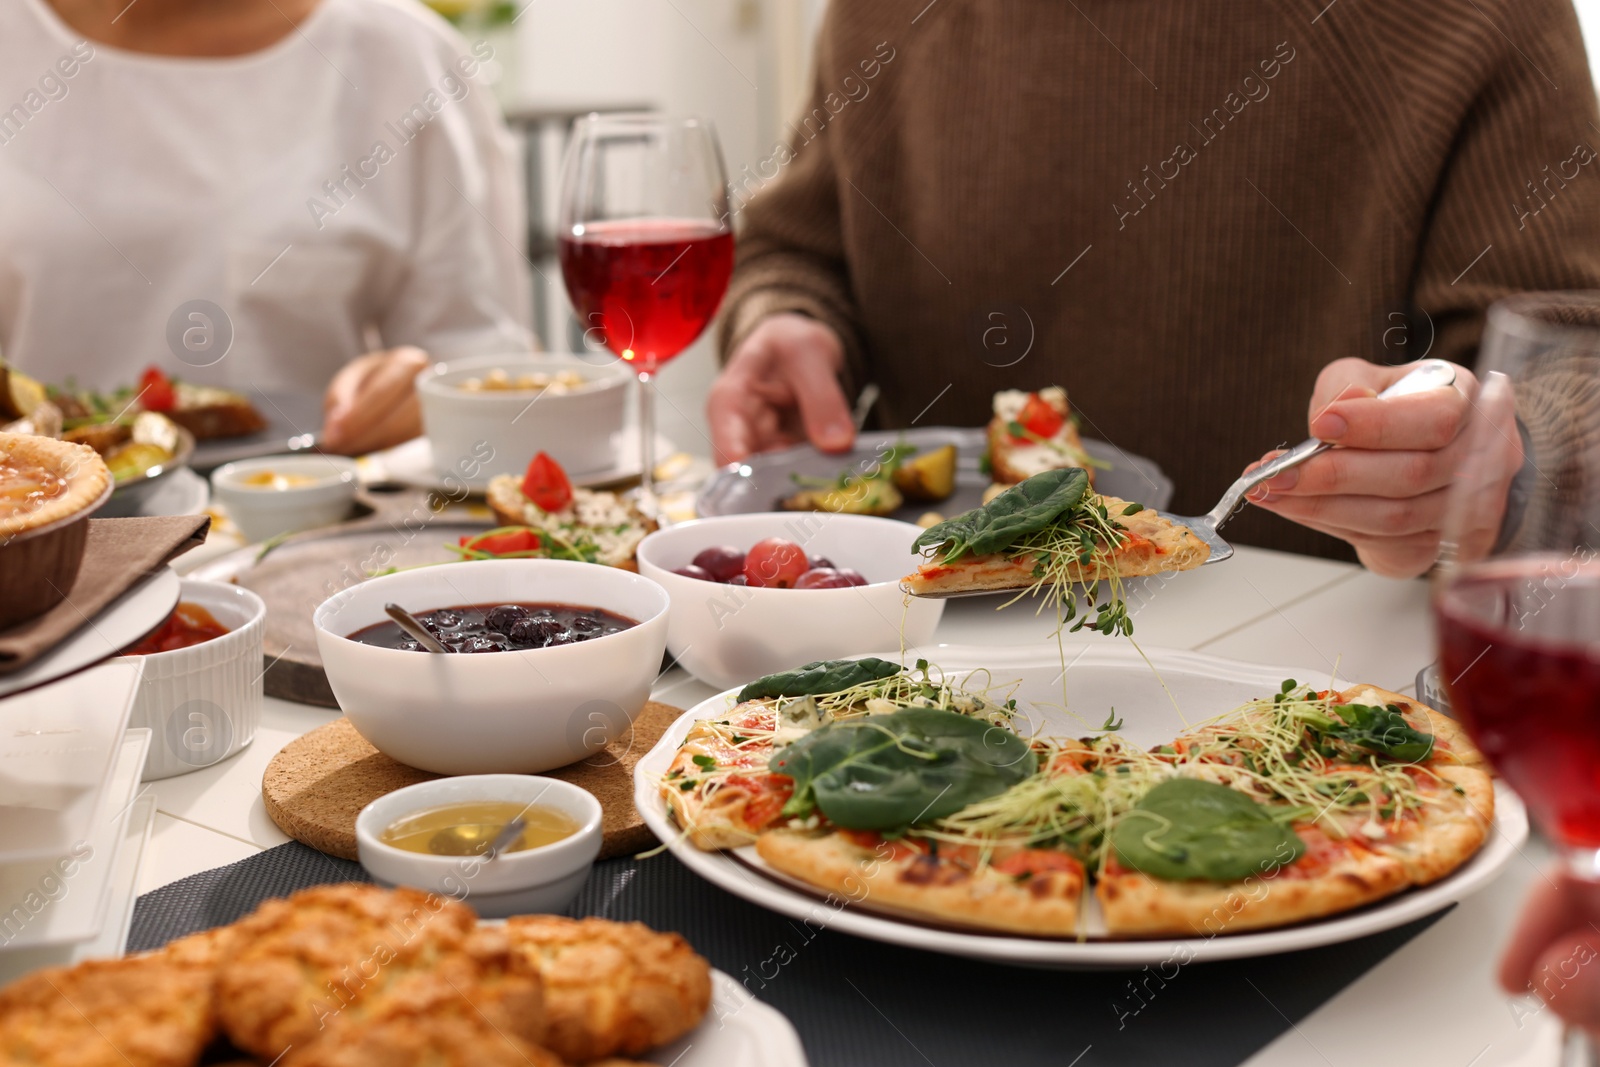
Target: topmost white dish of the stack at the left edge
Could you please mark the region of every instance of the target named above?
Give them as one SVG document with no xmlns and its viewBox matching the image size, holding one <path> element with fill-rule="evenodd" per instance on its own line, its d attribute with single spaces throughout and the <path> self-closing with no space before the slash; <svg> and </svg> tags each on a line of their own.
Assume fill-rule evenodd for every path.
<svg viewBox="0 0 1600 1067">
<path fill-rule="evenodd" d="M 102 664 L 0 702 L 0 864 L 53 861 L 91 835 L 141 669 Z"/>
</svg>

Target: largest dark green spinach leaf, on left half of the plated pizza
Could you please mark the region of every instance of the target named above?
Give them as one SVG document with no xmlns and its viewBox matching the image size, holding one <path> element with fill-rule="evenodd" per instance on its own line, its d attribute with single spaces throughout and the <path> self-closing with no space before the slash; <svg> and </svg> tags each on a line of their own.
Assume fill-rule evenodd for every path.
<svg viewBox="0 0 1600 1067">
<path fill-rule="evenodd" d="M 795 779 L 786 816 L 821 811 L 850 830 L 942 819 L 1037 768 L 1029 744 L 1010 729 L 933 707 L 829 723 L 768 765 Z"/>
</svg>

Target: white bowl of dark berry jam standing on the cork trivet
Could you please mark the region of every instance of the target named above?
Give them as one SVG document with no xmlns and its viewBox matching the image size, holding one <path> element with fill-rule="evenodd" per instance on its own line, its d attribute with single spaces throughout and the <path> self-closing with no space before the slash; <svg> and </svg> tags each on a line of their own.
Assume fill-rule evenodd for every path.
<svg viewBox="0 0 1600 1067">
<path fill-rule="evenodd" d="M 413 648 L 387 603 L 453 651 Z M 643 710 L 667 606 L 661 585 L 611 566 L 472 560 L 352 585 L 312 622 L 339 707 L 379 752 L 437 774 L 538 774 L 594 755 Z"/>
</svg>

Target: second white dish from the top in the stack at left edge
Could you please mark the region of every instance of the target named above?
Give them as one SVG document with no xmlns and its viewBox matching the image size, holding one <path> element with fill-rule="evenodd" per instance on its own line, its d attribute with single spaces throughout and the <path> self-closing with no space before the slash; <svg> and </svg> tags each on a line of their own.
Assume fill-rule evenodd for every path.
<svg viewBox="0 0 1600 1067">
<path fill-rule="evenodd" d="M 109 905 L 118 899 L 120 875 L 126 873 L 120 853 L 130 825 L 138 822 L 134 800 L 149 749 L 149 729 L 126 731 L 94 819 L 82 838 L 50 859 L 0 867 L 0 901 L 8 909 L 0 915 L 0 923 L 5 923 L 0 926 L 0 966 L 13 966 L 13 952 L 86 942 L 106 934 Z M 150 813 L 144 817 L 139 840 L 149 832 Z M 67 877 L 58 867 L 64 857 L 75 861 Z M 126 901 L 120 904 L 115 923 L 123 923 L 130 907 Z M 122 934 L 126 936 L 125 926 Z"/>
</svg>

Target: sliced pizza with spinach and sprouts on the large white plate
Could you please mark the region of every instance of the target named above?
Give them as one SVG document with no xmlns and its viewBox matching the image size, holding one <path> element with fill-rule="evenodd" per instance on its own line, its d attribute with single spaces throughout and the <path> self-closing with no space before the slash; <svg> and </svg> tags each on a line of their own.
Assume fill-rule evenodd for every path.
<svg viewBox="0 0 1600 1067">
<path fill-rule="evenodd" d="M 1285 681 L 1147 750 L 1114 731 L 1002 739 L 992 712 L 1014 701 L 963 713 L 947 686 L 912 705 L 904 673 L 843 713 L 786 717 L 818 696 L 774 678 L 696 725 L 662 781 L 669 809 L 699 848 L 754 843 L 779 877 L 915 921 L 1040 937 L 1083 936 L 1091 910 L 1107 937 L 1285 926 L 1450 875 L 1494 816 L 1454 721 L 1370 685 Z"/>
</svg>

